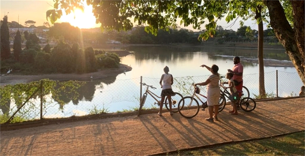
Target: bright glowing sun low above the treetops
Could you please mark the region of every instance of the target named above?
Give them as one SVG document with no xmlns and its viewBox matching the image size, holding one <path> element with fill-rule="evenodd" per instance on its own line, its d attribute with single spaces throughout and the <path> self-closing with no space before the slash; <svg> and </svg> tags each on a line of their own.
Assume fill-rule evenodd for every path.
<svg viewBox="0 0 305 156">
<path fill-rule="evenodd" d="M 71 26 L 88 29 L 100 26 L 95 21 L 95 16 L 92 13 L 92 5 L 84 5 L 84 12 L 81 9 L 75 9 L 69 15 L 63 15 L 58 22 L 68 22 Z"/>
</svg>

